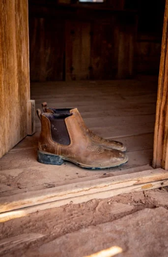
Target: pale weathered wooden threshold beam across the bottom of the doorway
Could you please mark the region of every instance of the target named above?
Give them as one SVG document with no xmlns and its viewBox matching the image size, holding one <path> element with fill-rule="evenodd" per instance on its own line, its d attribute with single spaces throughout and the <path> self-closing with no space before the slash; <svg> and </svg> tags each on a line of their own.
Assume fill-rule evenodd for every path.
<svg viewBox="0 0 168 257">
<path fill-rule="evenodd" d="M 65 204 L 163 186 L 168 186 L 168 171 L 158 168 L 4 196 L 0 198 L 0 222 Z"/>
</svg>

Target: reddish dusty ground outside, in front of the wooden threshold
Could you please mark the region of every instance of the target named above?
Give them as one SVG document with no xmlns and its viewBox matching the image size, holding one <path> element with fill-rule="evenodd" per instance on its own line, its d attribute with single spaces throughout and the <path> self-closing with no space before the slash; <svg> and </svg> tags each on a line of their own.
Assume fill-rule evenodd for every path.
<svg viewBox="0 0 168 257">
<path fill-rule="evenodd" d="M 168 256 L 168 187 L 40 211 L 0 224 L 0 256 Z"/>
</svg>

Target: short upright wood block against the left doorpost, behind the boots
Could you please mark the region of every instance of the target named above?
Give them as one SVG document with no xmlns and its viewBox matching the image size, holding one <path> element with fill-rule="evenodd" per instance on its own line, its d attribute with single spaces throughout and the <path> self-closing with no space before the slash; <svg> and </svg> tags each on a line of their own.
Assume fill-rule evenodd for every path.
<svg viewBox="0 0 168 257">
<path fill-rule="evenodd" d="M 35 133 L 35 100 L 29 100 L 27 103 L 27 134 Z"/>
</svg>

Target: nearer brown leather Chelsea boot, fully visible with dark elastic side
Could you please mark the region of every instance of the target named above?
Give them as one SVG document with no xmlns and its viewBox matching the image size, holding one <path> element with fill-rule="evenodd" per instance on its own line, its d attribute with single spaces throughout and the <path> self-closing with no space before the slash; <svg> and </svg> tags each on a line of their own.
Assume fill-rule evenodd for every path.
<svg viewBox="0 0 168 257">
<path fill-rule="evenodd" d="M 103 169 L 119 166 L 128 161 L 124 153 L 95 144 L 88 136 L 76 108 L 63 116 L 61 113 L 41 114 L 39 109 L 37 114 L 41 120 L 39 162 L 61 165 L 65 160 L 83 168 Z"/>
</svg>

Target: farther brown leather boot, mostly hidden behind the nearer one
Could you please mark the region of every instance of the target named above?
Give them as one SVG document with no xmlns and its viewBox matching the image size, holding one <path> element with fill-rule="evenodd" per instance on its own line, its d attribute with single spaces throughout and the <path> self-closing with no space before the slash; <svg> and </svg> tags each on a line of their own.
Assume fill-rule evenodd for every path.
<svg viewBox="0 0 168 257">
<path fill-rule="evenodd" d="M 47 102 L 43 102 L 42 104 L 42 108 L 44 112 L 50 112 L 50 113 L 64 113 L 66 114 L 67 112 L 69 112 L 71 109 L 73 108 L 66 108 L 66 109 L 56 109 L 56 108 L 49 108 L 47 107 Z M 107 149 L 116 149 L 119 150 L 121 152 L 125 152 L 126 151 L 126 147 L 118 141 L 114 141 L 114 140 L 107 140 L 101 136 L 98 136 L 96 134 L 94 134 L 89 128 L 86 127 L 84 120 L 82 119 L 80 113 L 78 112 L 78 116 L 79 119 L 81 120 L 81 123 L 83 124 L 83 127 L 86 129 L 88 135 L 92 138 L 92 140 L 94 141 L 94 143 L 96 145 L 100 145 L 103 146 Z"/>
</svg>

